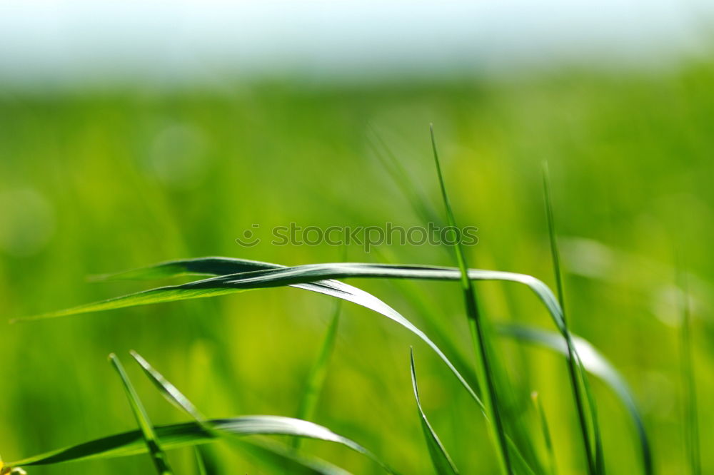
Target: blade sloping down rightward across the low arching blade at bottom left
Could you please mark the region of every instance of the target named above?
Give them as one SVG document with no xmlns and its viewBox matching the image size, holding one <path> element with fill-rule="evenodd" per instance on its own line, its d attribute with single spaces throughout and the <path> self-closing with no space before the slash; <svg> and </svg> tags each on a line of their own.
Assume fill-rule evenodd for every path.
<svg viewBox="0 0 714 475">
<path fill-rule="evenodd" d="M 174 386 L 174 384 L 171 384 L 171 382 L 169 382 L 169 380 L 166 379 L 160 372 L 156 371 L 156 369 L 154 369 L 154 367 L 152 367 L 151 364 L 149 364 L 149 362 L 141 356 L 141 354 L 132 350 L 131 356 L 136 359 L 136 362 L 139 363 L 141 369 L 144 370 L 146 377 L 149 377 L 151 382 L 154 383 L 154 386 L 156 386 L 156 389 L 159 389 L 159 392 L 162 396 L 164 396 L 164 399 L 189 416 L 193 417 L 193 419 L 195 419 L 196 422 L 208 432 L 208 434 L 212 434 L 216 437 L 228 437 L 231 441 L 240 441 L 241 448 L 249 449 L 249 452 L 253 456 L 258 456 L 258 458 L 260 458 L 263 462 L 275 466 L 276 469 L 288 471 L 291 474 L 337 475 L 345 473 L 342 469 L 328 464 L 326 461 L 321 459 L 297 456 L 296 454 L 291 453 L 291 451 L 283 449 L 283 447 L 276 444 L 267 445 L 265 443 L 258 444 L 242 441 L 236 439 L 235 434 L 232 434 L 231 432 L 216 429 L 216 427 L 213 427 L 213 425 L 211 425 L 206 418 L 203 417 L 203 414 L 196 409 L 196 406 L 194 406 L 193 403 L 188 400 L 188 398 L 184 396 L 183 393 L 176 388 L 176 386 Z M 381 464 L 381 462 L 378 463 Z"/>
</svg>

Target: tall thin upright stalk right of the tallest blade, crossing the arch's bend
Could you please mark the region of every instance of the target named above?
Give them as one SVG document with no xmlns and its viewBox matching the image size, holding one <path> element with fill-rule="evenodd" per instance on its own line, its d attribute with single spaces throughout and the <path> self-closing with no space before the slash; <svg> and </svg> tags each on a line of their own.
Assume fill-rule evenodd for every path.
<svg viewBox="0 0 714 475">
<path fill-rule="evenodd" d="M 560 252 L 558 251 L 558 240 L 555 237 L 555 219 L 553 218 L 553 200 L 550 197 L 550 174 L 548 173 L 548 163 L 543 163 L 543 196 L 545 199 L 545 213 L 548 217 L 548 237 L 550 240 L 550 256 L 553 259 L 553 272 L 555 273 L 555 287 L 558 295 L 558 302 L 563 311 L 563 327 L 565 330 L 565 343 L 568 345 L 568 376 L 570 377 L 570 386 L 573 387 L 573 396 L 575 397 L 575 407 L 578 410 L 578 421 L 580 422 L 580 434 L 583 439 L 585 449 L 585 457 L 588 462 L 588 473 L 594 475 L 598 473 L 598 466 L 593 455 L 593 447 L 590 444 L 590 436 L 588 431 L 588 422 L 585 417 L 585 402 L 583 401 L 583 392 L 581 390 L 580 377 L 585 379 L 585 374 L 578 372 L 578 357 L 575 353 L 573 340 L 570 338 L 570 330 L 568 330 L 568 320 L 565 317 L 565 297 L 563 292 L 563 276 L 560 272 Z M 593 431 L 597 431 L 594 427 L 596 421 L 593 421 Z"/>
</svg>

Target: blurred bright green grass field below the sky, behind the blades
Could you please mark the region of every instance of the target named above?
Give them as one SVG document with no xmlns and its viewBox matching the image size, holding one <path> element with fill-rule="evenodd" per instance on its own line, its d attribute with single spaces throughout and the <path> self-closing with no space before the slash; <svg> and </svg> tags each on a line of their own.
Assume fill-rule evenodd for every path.
<svg viewBox="0 0 714 475">
<path fill-rule="evenodd" d="M 659 474 L 686 473 L 675 261 L 691 272 L 701 444 L 714 440 L 706 402 L 714 254 L 714 66 L 675 71 L 560 71 L 503 80 L 331 86 L 289 81 L 221 88 L 0 93 L 0 454 L 19 459 L 136 424 L 106 362 L 136 349 L 210 417 L 294 416 L 331 317 L 328 297 L 271 289 L 24 322 L 12 317 L 148 288 L 88 275 L 161 260 L 224 255 L 298 265 L 342 259 L 339 247 L 273 246 L 273 226 L 420 225 L 375 157 L 378 136 L 441 210 L 433 122 L 461 225 L 479 228 L 472 267 L 553 285 L 540 164 L 553 175 L 570 326 L 623 373 L 645 416 Z M 261 228 L 263 241 L 236 237 Z M 678 251 L 679 250 L 679 251 Z M 347 249 L 353 262 L 454 265 L 439 247 Z M 433 315 L 471 358 L 456 282 L 351 280 L 414 322 Z M 416 288 L 428 305 L 415 302 Z M 491 320 L 552 330 L 527 290 L 478 283 Z M 308 295 L 306 295 L 308 294 Z M 585 473 L 563 359 L 501 341 L 515 387 L 537 390 L 561 474 Z M 431 473 L 411 393 L 462 473 L 495 473 L 483 417 L 426 346 L 401 327 L 343 305 L 315 421 L 404 474 Z M 181 422 L 138 367 L 151 415 Z M 608 473 L 637 473 L 634 429 L 593 379 Z M 526 417 L 537 423 L 535 412 Z M 215 444 L 221 473 L 268 473 Z M 303 449 L 356 474 L 381 473 L 341 446 Z M 193 452 L 169 454 L 196 473 Z M 151 473 L 148 456 L 31 467 L 30 474 Z M 704 450 L 703 472 L 714 471 Z"/>
</svg>

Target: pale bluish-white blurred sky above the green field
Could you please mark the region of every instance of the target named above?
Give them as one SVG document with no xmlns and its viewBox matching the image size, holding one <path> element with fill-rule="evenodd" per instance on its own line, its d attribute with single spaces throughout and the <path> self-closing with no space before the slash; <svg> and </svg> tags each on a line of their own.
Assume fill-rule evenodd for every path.
<svg viewBox="0 0 714 475">
<path fill-rule="evenodd" d="M 713 20 L 713 0 L 0 0 L 0 81 L 652 66 L 712 51 Z"/>
</svg>

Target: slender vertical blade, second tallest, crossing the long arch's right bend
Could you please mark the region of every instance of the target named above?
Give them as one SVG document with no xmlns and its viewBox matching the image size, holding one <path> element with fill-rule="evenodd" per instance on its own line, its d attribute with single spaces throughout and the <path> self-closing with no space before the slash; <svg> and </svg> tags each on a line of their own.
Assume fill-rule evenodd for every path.
<svg viewBox="0 0 714 475">
<path fill-rule="evenodd" d="M 573 342 L 570 338 L 570 333 L 568 332 L 567 321 L 565 320 L 563 276 L 560 273 L 560 252 L 558 252 L 558 240 L 555 237 L 555 218 L 553 218 L 553 203 L 550 198 L 550 175 L 548 173 L 548 163 L 543 163 L 543 196 L 545 198 L 545 214 L 548 218 L 548 237 L 550 240 L 550 255 L 553 259 L 553 272 L 555 272 L 555 285 L 558 290 L 558 302 L 560 303 L 560 308 L 563 310 L 563 326 L 565 327 L 565 332 L 563 332 L 563 334 L 565 336 L 565 342 L 568 346 L 568 376 L 570 377 L 570 387 L 573 389 L 575 407 L 578 411 L 578 422 L 580 422 L 580 434 L 583 439 L 585 459 L 588 461 L 588 473 L 590 473 L 590 475 L 601 474 L 602 471 L 599 460 L 603 459 L 603 454 L 599 451 L 602 450 L 602 441 L 600 437 L 598 418 L 596 416 L 597 409 L 594 406 L 595 398 L 593 397 L 593 394 L 588 391 L 587 376 L 585 376 L 583 372 L 578 371 L 579 367 L 577 364 L 577 357 L 575 357 L 575 349 L 573 349 Z M 593 455 L 593 447 L 590 442 L 588 423 L 586 421 L 586 414 L 588 414 L 588 411 L 586 411 L 585 404 L 583 402 L 580 380 L 583 381 L 585 391 L 588 393 L 586 394 L 586 397 L 588 397 L 588 402 L 590 403 L 589 415 L 590 425 L 593 429 L 595 455 Z"/>
</svg>

